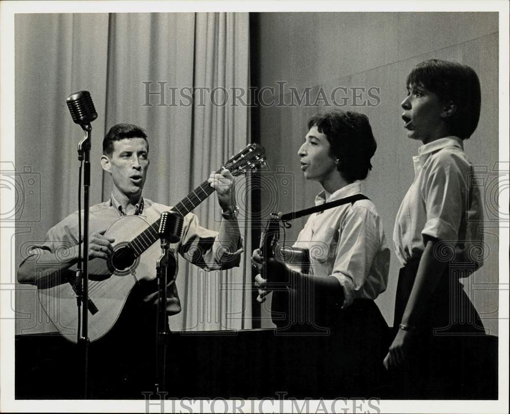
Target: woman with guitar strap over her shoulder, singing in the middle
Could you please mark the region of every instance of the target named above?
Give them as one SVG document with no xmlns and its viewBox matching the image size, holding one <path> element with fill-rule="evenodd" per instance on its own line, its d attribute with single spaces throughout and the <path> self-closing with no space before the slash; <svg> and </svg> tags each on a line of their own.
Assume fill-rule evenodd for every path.
<svg viewBox="0 0 510 414">
<path fill-rule="evenodd" d="M 304 177 L 323 188 L 315 204 L 360 195 L 359 181 L 372 169 L 370 158 L 377 148 L 368 118 L 333 112 L 313 117 L 308 129 L 298 155 Z M 273 322 L 278 330 L 302 333 L 327 328 L 338 352 L 355 353 L 352 367 L 358 374 L 382 367 L 373 358 L 381 354 L 387 324 L 374 299 L 387 286 L 390 250 L 374 204 L 362 199 L 311 214 L 294 247 L 309 250 L 308 273 L 289 270 L 277 259 L 264 263 L 260 249 L 252 255 L 260 271 L 267 269 L 267 274 L 255 278 L 258 301 L 273 291 Z M 279 319 L 275 319 L 275 301 L 284 314 Z"/>
</svg>

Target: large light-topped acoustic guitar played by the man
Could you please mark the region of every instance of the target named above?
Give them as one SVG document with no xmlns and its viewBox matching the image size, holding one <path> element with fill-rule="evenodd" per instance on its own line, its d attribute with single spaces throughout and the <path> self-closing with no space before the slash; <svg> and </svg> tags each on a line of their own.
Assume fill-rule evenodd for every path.
<svg viewBox="0 0 510 414">
<path fill-rule="evenodd" d="M 259 168 L 264 158 L 264 148 L 250 144 L 226 161 L 224 168 L 238 176 Z M 185 216 L 213 191 L 206 180 L 171 210 Z M 90 342 L 103 337 L 114 326 L 127 296 L 137 283 L 137 272 L 152 275 L 151 279 L 156 278 L 156 262 L 161 254 L 156 243 L 159 240 L 159 225 L 160 219 L 150 224 L 140 216 L 123 216 L 105 233 L 105 236 L 115 238 L 111 260 L 107 262 L 96 258 L 88 262 Z M 79 313 L 74 289 L 71 279 L 49 278 L 37 290 L 44 311 L 59 332 L 69 341 L 77 343 Z"/>
</svg>

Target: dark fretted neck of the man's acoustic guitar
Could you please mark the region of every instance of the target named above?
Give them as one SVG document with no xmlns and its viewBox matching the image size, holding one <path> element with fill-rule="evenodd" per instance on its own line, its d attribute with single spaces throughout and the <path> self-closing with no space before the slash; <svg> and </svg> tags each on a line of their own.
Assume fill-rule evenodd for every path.
<svg viewBox="0 0 510 414">
<path fill-rule="evenodd" d="M 209 185 L 206 180 L 198 187 L 190 192 L 184 199 L 173 206 L 170 210 L 176 211 L 183 217 L 197 207 L 202 201 L 207 199 L 214 192 L 214 188 Z M 152 223 L 147 229 L 136 236 L 132 241 L 127 243 L 127 246 L 135 252 L 136 256 L 140 256 L 152 244 L 159 239 L 159 227 L 161 219 L 158 218 L 156 222 Z"/>
</svg>

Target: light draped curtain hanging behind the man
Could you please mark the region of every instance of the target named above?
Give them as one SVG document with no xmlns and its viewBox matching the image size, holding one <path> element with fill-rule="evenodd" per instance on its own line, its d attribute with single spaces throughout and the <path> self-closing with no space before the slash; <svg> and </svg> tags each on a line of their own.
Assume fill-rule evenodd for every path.
<svg viewBox="0 0 510 414">
<path fill-rule="evenodd" d="M 111 191 L 99 165 L 103 136 L 112 125 L 129 122 L 148 134 L 144 197 L 174 205 L 249 142 L 249 108 L 232 104 L 233 88 L 248 90 L 248 58 L 245 13 L 16 15 L 16 171 L 28 167 L 40 177 L 40 205 L 27 204 L 27 214 L 40 220 L 17 223 L 24 230 L 16 234 L 16 265 L 24 246 L 42 240 L 78 208 L 76 146 L 82 132 L 70 119 L 66 96 L 90 91 L 98 113 L 90 203 L 108 200 Z M 199 101 L 196 94 L 191 99 L 196 88 L 202 88 Z M 238 178 L 236 187 L 238 205 L 248 215 L 245 180 Z M 215 195 L 194 213 L 202 226 L 219 228 Z M 183 311 L 169 319 L 172 330 L 251 327 L 251 246 L 242 217 L 239 268 L 203 272 L 180 258 Z M 55 330 L 31 287 L 17 286 L 16 311 L 17 334 Z"/>
</svg>

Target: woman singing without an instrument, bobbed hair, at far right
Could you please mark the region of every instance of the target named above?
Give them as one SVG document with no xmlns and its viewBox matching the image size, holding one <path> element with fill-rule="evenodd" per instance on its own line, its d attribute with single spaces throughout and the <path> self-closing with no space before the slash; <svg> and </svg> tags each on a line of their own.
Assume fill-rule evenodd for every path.
<svg viewBox="0 0 510 414">
<path fill-rule="evenodd" d="M 402 267 L 397 330 L 384 363 L 400 374 L 403 397 L 444 397 L 447 387 L 466 380 L 456 378 L 455 359 L 466 352 L 462 341 L 484 333 L 459 282 L 483 261 L 477 254 L 483 251 L 482 203 L 464 152 L 480 116 L 480 83 L 469 66 L 432 59 L 411 71 L 406 87 L 404 128 L 422 145 L 395 220 L 393 241 Z"/>
</svg>

